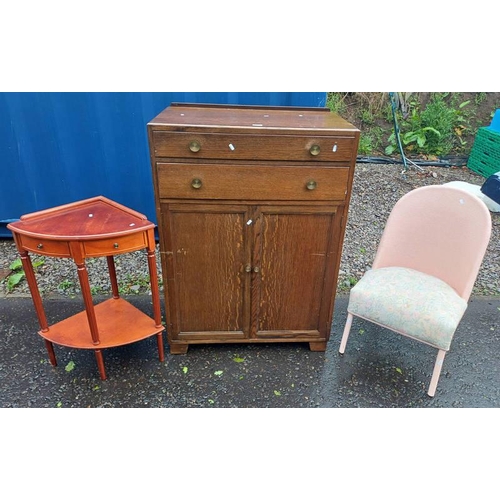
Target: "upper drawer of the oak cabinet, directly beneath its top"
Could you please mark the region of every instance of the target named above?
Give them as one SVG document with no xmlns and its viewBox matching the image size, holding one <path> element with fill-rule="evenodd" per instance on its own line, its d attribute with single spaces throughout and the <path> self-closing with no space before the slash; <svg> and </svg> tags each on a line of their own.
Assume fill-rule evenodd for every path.
<svg viewBox="0 0 500 500">
<path fill-rule="evenodd" d="M 350 161 L 354 137 L 206 134 L 200 132 L 152 133 L 154 154 L 164 158 Z"/>
</svg>

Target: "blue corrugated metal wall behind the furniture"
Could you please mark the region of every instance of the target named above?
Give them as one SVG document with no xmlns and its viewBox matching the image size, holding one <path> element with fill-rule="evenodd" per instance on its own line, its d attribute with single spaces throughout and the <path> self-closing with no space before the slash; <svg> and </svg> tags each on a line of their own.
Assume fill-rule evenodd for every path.
<svg viewBox="0 0 500 500">
<path fill-rule="evenodd" d="M 156 222 L 146 124 L 171 102 L 325 106 L 326 92 L 0 93 L 0 237 L 103 195 Z"/>
</svg>

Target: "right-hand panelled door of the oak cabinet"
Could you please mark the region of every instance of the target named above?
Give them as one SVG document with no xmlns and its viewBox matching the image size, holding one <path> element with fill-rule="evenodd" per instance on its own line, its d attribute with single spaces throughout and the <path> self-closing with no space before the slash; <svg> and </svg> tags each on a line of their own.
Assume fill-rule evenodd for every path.
<svg viewBox="0 0 500 500">
<path fill-rule="evenodd" d="M 335 207 L 261 207 L 254 228 L 259 272 L 253 273 L 252 335 L 328 338 L 336 222 Z"/>
</svg>

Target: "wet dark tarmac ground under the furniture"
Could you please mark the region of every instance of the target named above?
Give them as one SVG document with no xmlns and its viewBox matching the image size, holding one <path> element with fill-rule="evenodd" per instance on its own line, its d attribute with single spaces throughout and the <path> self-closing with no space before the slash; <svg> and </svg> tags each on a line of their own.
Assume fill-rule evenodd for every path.
<svg viewBox="0 0 500 500">
<path fill-rule="evenodd" d="M 128 299 L 151 310 L 146 295 Z M 96 299 L 98 300 L 98 299 Z M 79 298 L 45 299 L 49 323 L 82 309 Z M 163 306 L 163 304 L 162 304 Z M 3 408 L 498 408 L 500 297 L 472 298 L 445 358 L 436 396 L 427 395 L 436 351 L 355 319 L 338 353 L 347 297 L 337 298 L 326 352 L 308 344 L 190 346 L 158 360 L 152 337 L 104 351 L 55 346 L 48 361 L 31 298 L 0 298 Z M 74 368 L 66 370 L 68 363 Z"/>
</svg>

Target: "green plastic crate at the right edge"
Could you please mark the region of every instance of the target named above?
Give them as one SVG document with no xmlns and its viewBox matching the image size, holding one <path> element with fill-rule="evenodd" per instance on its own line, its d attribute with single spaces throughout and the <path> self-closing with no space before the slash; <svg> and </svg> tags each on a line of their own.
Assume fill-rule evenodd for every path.
<svg viewBox="0 0 500 500">
<path fill-rule="evenodd" d="M 500 132 L 487 127 L 477 131 L 467 167 L 483 177 L 500 172 Z"/>
</svg>

